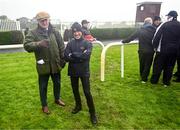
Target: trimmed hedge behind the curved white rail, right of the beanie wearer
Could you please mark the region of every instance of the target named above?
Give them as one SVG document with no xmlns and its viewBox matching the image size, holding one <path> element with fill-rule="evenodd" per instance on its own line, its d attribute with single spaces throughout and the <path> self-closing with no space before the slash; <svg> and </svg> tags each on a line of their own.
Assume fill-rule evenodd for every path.
<svg viewBox="0 0 180 130">
<path fill-rule="evenodd" d="M 94 28 L 91 34 L 98 40 L 124 39 L 131 35 L 137 28 Z"/>
</svg>

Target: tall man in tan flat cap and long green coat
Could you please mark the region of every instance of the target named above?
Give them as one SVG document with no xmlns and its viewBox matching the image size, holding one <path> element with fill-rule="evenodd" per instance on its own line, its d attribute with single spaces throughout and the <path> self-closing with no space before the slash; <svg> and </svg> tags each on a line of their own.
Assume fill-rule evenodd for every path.
<svg viewBox="0 0 180 130">
<path fill-rule="evenodd" d="M 42 111 L 46 114 L 50 113 L 47 106 L 47 86 L 50 76 L 53 81 L 55 103 L 65 106 L 60 99 L 60 71 L 65 65 L 64 42 L 59 31 L 49 22 L 49 18 L 47 12 L 39 12 L 36 15 L 38 27 L 29 31 L 24 42 L 24 49 L 35 53 L 40 100 Z"/>
</svg>

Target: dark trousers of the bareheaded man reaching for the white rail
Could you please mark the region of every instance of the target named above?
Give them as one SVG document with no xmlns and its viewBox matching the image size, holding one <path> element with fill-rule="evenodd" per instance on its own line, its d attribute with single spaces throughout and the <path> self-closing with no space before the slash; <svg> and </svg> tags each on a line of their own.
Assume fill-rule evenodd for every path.
<svg viewBox="0 0 180 130">
<path fill-rule="evenodd" d="M 141 52 L 139 51 L 139 63 L 140 63 L 140 76 L 142 81 L 147 81 L 151 65 L 153 62 L 153 52 Z"/>
</svg>

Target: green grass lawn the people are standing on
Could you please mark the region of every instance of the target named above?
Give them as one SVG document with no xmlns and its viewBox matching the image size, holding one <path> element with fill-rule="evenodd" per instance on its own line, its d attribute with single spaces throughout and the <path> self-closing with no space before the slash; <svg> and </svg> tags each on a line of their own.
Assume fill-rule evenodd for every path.
<svg viewBox="0 0 180 130">
<path fill-rule="evenodd" d="M 91 92 L 99 123 L 92 126 L 80 87 L 83 110 L 72 115 L 74 98 L 62 71 L 61 95 L 66 106 L 54 104 L 48 86 L 50 115 L 41 112 L 34 55 L 0 54 L 0 129 L 180 129 L 180 84 L 168 88 L 139 81 L 137 45 L 125 46 L 125 77 L 120 78 L 120 47 L 107 52 L 105 82 L 100 81 L 101 48 L 91 58 Z"/>
</svg>

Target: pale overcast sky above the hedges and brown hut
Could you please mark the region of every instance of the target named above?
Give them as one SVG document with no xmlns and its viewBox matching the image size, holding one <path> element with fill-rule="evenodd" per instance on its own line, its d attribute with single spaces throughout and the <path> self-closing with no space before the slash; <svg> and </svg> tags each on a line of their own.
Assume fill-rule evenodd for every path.
<svg viewBox="0 0 180 130">
<path fill-rule="evenodd" d="M 144 0 L 146 1 L 146 0 Z M 136 3 L 143 0 L 0 0 L 0 15 L 10 19 L 33 18 L 39 11 L 47 11 L 52 19 L 62 21 L 133 21 Z M 170 10 L 180 15 L 180 0 L 153 0 L 163 2 L 161 16 Z"/>
</svg>

